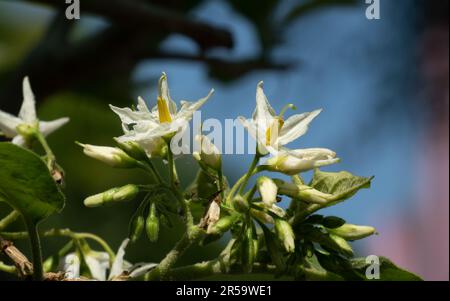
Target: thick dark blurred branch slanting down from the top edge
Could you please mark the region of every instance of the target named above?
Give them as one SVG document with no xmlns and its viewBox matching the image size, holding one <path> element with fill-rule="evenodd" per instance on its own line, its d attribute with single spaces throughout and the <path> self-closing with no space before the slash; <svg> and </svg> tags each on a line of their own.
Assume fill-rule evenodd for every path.
<svg viewBox="0 0 450 301">
<path fill-rule="evenodd" d="M 66 9 L 61 0 L 29 0 Z M 116 25 L 126 28 L 146 28 L 166 32 L 176 32 L 195 40 L 202 49 L 211 47 L 233 47 L 232 35 L 228 30 L 209 24 L 187 20 L 183 15 L 142 1 L 96 0 L 84 1 L 82 12 L 103 16 Z"/>
</svg>

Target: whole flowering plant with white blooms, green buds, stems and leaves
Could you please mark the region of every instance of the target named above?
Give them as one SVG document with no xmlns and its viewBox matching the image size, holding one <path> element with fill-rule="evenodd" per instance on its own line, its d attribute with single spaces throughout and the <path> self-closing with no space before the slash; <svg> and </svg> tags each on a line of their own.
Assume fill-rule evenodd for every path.
<svg viewBox="0 0 450 301">
<path fill-rule="evenodd" d="M 181 101 L 177 105 L 170 97 L 167 76 L 163 73 L 158 92 L 152 109 L 142 98 L 130 108 L 110 105 L 123 129 L 123 135 L 114 138 L 115 146 L 77 142 L 84 154 L 93 159 L 115 168 L 141 169 L 151 175 L 147 184 L 125 183 L 84 200 L 86 207 L 137 200 L 137 209 L 130 216 L 128 238 L 114 253 L 94 234 L 68 229 L 49 230 L 45 232 L 47 236 L 70 240 L 43 263 L 37 223 L 64 207 L 60 190 L 62 169 L 56 164 L 45 136 L 68 119 L 40 121 L 36 117 L 34 96 L 27 78 L 23 82 L 24 101 L 19 116 L 0 111 L 0 130 L 13 142 L 0 143 L 0 163 L 4 164 L 0 169 L 0 176 L 4 178 L 0 181 L 0 201 L 14 208 L 9 216 L 0 220 L 0 239 L 2 236 L 10 239 L 24 236 L 23 233 L 2 232 L 22 215 L 28 228 L 25 236 L 30 236 L 34 247 L 35 279 L 44 279 L 44 272 L 51 271 L 62 271 L 64 279 L 72 280 L 180 280 L 190 275 L 257 270 L 298 280 L 365 280 L 367 263 L 364 259 L 353 258 L 350 242 L 375 234 L 375 228 L 354 225 L 340 217 L 317 212 L 368 188 L 373 177 L 320 170 L 339 162 L 336 153 L 330 149 L 287 147 L 308 131 L 320 109 L 285 118 L 287 110 L 296 109 L 295 106 L 287 104 L 277 114 L 264 94 L 263 83 L 258 83 L 252 118 L 239 117 L 257 142 L 248 171 L 230 183 L 223 174 L 219 149 L 207 136 L 199 134 L 195 140 L 200 148 L 192 154 L 199 168 L 195 179 L 188 184 L 186 179 L 179 177 L 171 142 L 185 131 L 194 112 L 205 104 L 213 90 L 196 102 Z M 31 149 L 34 141 L 42 145 L 46 156 L 23 149 Z M 165 163 L 164 173 L 156 168 L 155 160 Z M 310 170 L 313 175 L 306 182 L 302 173 Z M 19 184 L 18 173 L 22 173 Z M 251 180 L 253 177 L 255 181 Z M 288 202 L 287 206 L 280 205 L 282 200 Z M 150 242 L 157 243 L 161 227 L 171 227 L 174 219 L 185 224 L 185 233 L 159 263 L 131 264 L 124 260 L 129 243 L 135 243 L 144 233 Z M 218 258 L 175 267 L 188 248 L 204 246 L 221 238 L 228 242 Z M 103 250 L 92 250 L 88 240 L 95 241 Z M 392 277 L 418 279 L 389 260 L 382 261 L 388 266 L 383 270 L 387 279 L 390 276 L 386 271 L 391 271 Z M 0 262 L 3 271 L 25 276 L 30 271 L 17 269 L 18 265 L 7 266 Z"/>
</svg>

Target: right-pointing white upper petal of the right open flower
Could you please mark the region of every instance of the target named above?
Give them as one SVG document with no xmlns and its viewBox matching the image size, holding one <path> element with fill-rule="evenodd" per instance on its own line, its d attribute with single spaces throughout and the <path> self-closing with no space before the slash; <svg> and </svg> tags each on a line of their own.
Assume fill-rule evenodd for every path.
<svg viewBox="0 0 450 301">
<path fill-rule="evenodd" d="M 308 130 L 309 123 L 319 115 L 320 112 L 322 112 L 322 109 L 303 114 L 295 114 L 289 117 L 281 128 L 278 142 L 281 145 L 288 144 L 304 135 Z"/>
</svg>

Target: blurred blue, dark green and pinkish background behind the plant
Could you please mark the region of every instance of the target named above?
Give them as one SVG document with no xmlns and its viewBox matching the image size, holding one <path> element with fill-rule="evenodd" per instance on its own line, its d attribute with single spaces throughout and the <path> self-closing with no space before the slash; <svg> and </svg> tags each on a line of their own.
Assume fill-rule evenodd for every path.
<svg viewBox="0 0 450 301">
<path fill-rule="evenodd" d="M 137 202 L 82 204 L 90 194 L 146 181 L 85 157 L 74 144 L 111 145 L 121 134 L 107 104 L 129 106 L 138 95 L 154 104 L 165 71 L 175 100 L 216 89 L 203 118 L 251 116 L 264 80 L 276 110 L 289 102 L 301 112 L 324 108 L 292 147 L 333 149 L 342 162 L 326 170 L 375 175 L 371 189 L 327 209 L 377 228 L 378 236 L 355 244 L 357 254 L 448 280 L 449 2 L 379 3 L 380 19 L 369 20 L 363 0 L 91 0 L 81 1 L 80 20 L 69 21 L 64 1 L 0 1 L 0 109 L 17 114 L 28 75 L 40 119 L 71 118 L 49 139 L 67 174 L 66 208 L 41 228 L 94 232 L 114 249 L 128 234 Z M 224 157 L 230 181 L 251 159 Z M 189 184 L 195 162 L 177 163 Z M 0 216 L 7 212 L 0 204 Z M 127 259 L 159 261 L 181 228 L 164 229 L 157 244 L 143 236 Z M 44 244 L 50 255 L 64 241 Z M 221 244 L 193 249 L 180 264 L 214 258 Z M 18 246 L 29 254 L 26 241 Z"/>
</svg>

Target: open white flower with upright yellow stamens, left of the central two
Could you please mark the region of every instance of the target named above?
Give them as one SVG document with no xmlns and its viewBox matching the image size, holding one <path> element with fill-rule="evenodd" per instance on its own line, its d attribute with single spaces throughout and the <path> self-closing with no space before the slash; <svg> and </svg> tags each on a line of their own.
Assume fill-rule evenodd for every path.
<svg viewBox="0 0 450 301">
<path fill-rule="evenodd" d="M 149 110 L 141 97 L 138 98 L 136 110 L 110 105 L 114 113 L 120 117 L 125 133 L 118 140 L 136 141 L 149 150 L 148 153 L 152 153 L 152 148 L 157 147 L 163 138 L 171 138 L 187 127 L 194 112 L 209 99 L 213 91 L 196 102 L 181 101 L 178 110 L 177 104 L 169 94 L 167 76 L 163 73 L 159 79 L 157 104 L 152 110 Z"/>
</svg>

